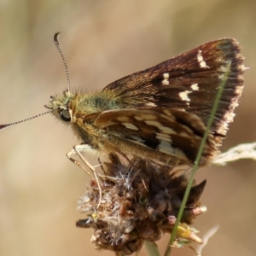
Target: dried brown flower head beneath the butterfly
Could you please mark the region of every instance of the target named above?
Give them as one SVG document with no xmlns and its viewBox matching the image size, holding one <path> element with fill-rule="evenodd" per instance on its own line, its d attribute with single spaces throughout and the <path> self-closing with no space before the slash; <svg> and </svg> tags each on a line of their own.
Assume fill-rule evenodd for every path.
<svg viewBox="0 0 256 256">
<path fill-rule="evenodd" d="M 124 164 L 116 155 L 110 155 L 110 162 L 103 166 L 102 200 L 99 204 L 99 189 L 92 180 L 92 191 L 88 189 L 79 201 L 79 211 L 89 218 L 77 222 L 78 227 L 94 229 L 91 241 L 97 249 L 130 255 L 140 250 L 143 241 L 158 241 L 166 232 L 172 233 L 188 183 L 184 171 L 138 158 Z M 177 230 L 177 247 L 190 241 L 201 243 L 189 224 L 206 211 L 199 202 L 205 185 L 206 181 L 194 182 L 190 190 Z"/>
</svg>

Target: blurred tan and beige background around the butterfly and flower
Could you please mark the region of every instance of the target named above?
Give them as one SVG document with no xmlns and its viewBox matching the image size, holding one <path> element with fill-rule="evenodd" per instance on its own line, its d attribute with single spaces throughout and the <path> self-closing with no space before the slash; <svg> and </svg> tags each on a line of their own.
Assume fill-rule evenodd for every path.
<svg viewBox="0 0 256 256">
<path fill-rule="evenodd" d="M 207 41 L 237 38 L 246 57 L 246 87 L 223 151 L 256 140 L 256 4 L 253 0 L 0 0 L 0 123 L 45 111 L 67 88 L 61 46 L 73 87 L 107 84 Z M 92 230 L 75 227 L 77 201 L 89 179 L 65 154 L 79 143 L 50 114 L 0 133 L 0 255 L 98 255 Z M 88 156 L 88 160 L 96 160 Z M 200 236 L 219 230 L 203 255 L 256 253 L 256 164 L 240 160 L 200 170 L 207 178 L 197 218 Z M 158 243 L 163 253 L 169 236 Z M 172 255 L 193 255 L 188 248 Z M 104 255 L 113 253 L 104 252 Z M 140 255 L 146 255 L 143 249 Z"/>
</svg>

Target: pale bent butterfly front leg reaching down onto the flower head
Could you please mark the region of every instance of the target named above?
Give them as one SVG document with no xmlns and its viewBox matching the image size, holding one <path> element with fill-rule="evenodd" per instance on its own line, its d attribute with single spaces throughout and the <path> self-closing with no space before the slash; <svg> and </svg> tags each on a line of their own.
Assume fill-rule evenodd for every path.
<svg viewBox="0 0 256 256">
<path fill-rule="evenodd" d="M 95 177 L 96 183 L 98 185 L 99 195 L 100 195 L 99 203 L 97 205 L 97 208 L 98 208 L 100 206 L 101 202 L 102 202 L 102 187 L 101 187 L 101 184 L 99 182 L 99 178 L 98 178 L 98 176 L 95 172 L 95 168 L 93 166 L 91 166 L 90 163 L 87 160 L 85 160 L 83 154 L 81 154 L 84 151 L 91 151 L 91 150 L 92 150 L 92 148 L 90 147 L 90 145 L 88 145 L 88 144 L 79 144 L 79 145 L 74 146 L 73 149 L 67 153 L 67 158 L 69 160 L 71 160 L 75 165 L 79 166 L 84 172 L 86 172 L 90 176 L 91 179 L 93 179 L 91 173 L 86 168 L 84 168 L 84 166 L 82 166 L 81 163 L 78 160 L 73 159 L 72 155 L 73 154 L 78 154 L 79 158 L 81 160 L 83 160 L 84 165 L 87 166 L 90 169 L 90 171 L 93 173 L 93 176 Z"/>
</svg>

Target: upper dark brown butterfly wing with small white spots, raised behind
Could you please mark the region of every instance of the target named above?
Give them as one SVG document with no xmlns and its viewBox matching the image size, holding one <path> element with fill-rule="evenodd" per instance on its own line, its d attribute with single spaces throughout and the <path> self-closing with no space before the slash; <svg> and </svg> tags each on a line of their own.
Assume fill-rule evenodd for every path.
<svg viewBox="0 0 256 256">
<path fill-rule="evenodd" d="M 212 124 L 212 134 L 219 146 L 243 88 L 240 51 L 236 39 L 218 39 L 119 79 L 103 91 L 113 94 L 124 108 L 178 108 L 195 113 L 207 125 L 218 88 L 227 76 Z M 227 72 L 229 61 L 231 67 Z"/>
</svg>

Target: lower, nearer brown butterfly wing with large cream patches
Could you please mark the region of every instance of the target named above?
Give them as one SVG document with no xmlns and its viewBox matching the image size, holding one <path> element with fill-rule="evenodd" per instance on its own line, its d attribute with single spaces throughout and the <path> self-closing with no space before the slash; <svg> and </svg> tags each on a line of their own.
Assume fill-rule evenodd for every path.
<svg viewBox="0 0 256 256">
<path fill-rule="evenodd" d="M 133 146 L 142 148 L 143 152 L 150 148 L 186 164 L 194 163 L 206 131 L 206 126 L 195 114 L 174 108 L 104 111 L 96 118 L 94 125 L 106 130 L 113 137 L 125 139 Z M 129 153 L 133 154 L 132 151 L 130 149 Z M 210 134 L 201 164 L 207 165 L 217 152 Z M 140 156 L 143 157 L 143 154 Z"/>
</svg>

